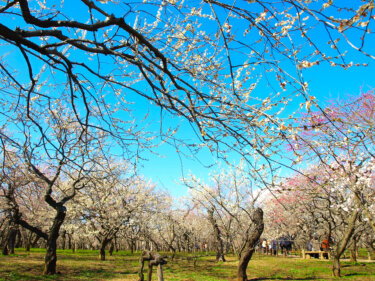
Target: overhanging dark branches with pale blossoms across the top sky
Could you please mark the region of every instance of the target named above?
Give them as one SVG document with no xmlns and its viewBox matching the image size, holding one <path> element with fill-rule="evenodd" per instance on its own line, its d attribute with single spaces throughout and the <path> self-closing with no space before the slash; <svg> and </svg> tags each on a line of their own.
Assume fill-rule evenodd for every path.
<svg viewBox="0 0 375 281">
<path fill-rule="evenodd" d="M 138 156 L 152 137 L 132 122 L 131 103 L 141 96 L 162 120 L 188 121 L 219 157 L 230 148 L 270 159 L 291 130 L 280 118 L 289 101 L 307 109 L 315 102 L 305 68 L 362 63 L 346 50 L 374 58 L 373 1 L 347 4 L 81 0 L 72 9 L 70 1 L 4 1 L 2 103 L 22 105 L 42 131 L 34 108 L 64 100 L 81 132 L 99 128 Z M 182 141 L 169 125 L 161 127 L 164 140 Z M 188 144 L 190 152 L 199 148 Z"/>
</svg>

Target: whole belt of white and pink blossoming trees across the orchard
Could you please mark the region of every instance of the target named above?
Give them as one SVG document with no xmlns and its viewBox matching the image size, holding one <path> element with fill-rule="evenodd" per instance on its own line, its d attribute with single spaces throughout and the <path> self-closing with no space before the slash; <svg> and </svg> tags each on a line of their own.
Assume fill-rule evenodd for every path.
<svg viewBox="0 0 375 281">
<path fill-rule="evenodd" d="M 61 247 L 98 248 L 102 260 L 106 247 L 110 252 L 171 251 L 173 256 L 176 251 L 210 249 L 217 261 L 225 261 L 230 251 L 240 259 L 238 278 L 246 280 L 246 266 L 265 227 L 263 238 L 287 236 L 300 249 L 313 239 L 330 239 L 333 273 L 340 275 L 340 257 L 348 247 L 354 252 L 359 245 L 375 250 L 374 112 L 372 91 L 332 103 L 323 114 L 309 112 L 293 124 L 300 135 L 285 148 L 298 151 L 308 165 L 292 176 L 279 173 L 272 178 L 264 165 L 254 170 L 244 161 L 218 169 L 209 182 L 191 175 L 184 179 L 190 195 L 181 199 L 183 207 L 172 204 L 168 194 L 155 189 L 130 163 L 104 154 L 100 158 L 105 143 L 91 159 L 85 152 L 84 165 L 71 166 L 66 159 L 52 169 L 27 150 L 32 146 L 3 142 L 3 252 L 14 250 L 17 233 L 26 248 L 43 241 L 48 273 L 56 270 L 59 236 Z M 66 140 L 65 150 L 77 147 L 77 142 L 67 145 L 69 128 L 62 130 L 65 135 L 58 126 L 51 128 Z M 324 161 L 312 158 L 314 149 Z M 73 164 L 83 163 L 76 161 L 81 154 L 69 155 Z"/>
</svg>

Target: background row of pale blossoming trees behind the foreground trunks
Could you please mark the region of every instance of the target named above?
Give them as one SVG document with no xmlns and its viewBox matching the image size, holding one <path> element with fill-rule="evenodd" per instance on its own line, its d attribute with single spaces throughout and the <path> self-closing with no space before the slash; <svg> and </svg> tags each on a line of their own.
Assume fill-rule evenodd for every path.
<svg viewBox="0 0 375 281">
<path fill-rule="evenodd" d="M 197 181 L 193 185 L 191 181 L 194 186 L 191 197 L 185 201 L 185 208 L 177 209 L 172 206 L 172 199 L 154 190 L 150 182 L 135 176 L 124 178 L 129 176 L 129 170 L 123 167 L 113 168 L 107 177 L 96 175 L 92 185 L 87 185 L 66 204 L 67 216 L 56 241 L 61 248 L 100 249 L 102 260 L 106 247 L 110 254 L 114 249 L 149 249 L 170 251 L 173 259 L 176 251 L 214 250 L 218 261 L 225 261 L 224 254 L 228 252 L 245 259 L 249 257 L 246 244 L 252 245 L 251 257 L 261 235 L 260 231 L 254 241 L 249 235 L 254 233 L 251 228 L 258 201 L 265 212 L 263 238 L 288 236 L 297 248 L 303 249 L 316 237 L 318 241 L 333 237 L 331 246 L 338 259 L 350 244 L 354 251 L 360 245 L 375 250 L 367 213 L 355 209 L 355 200 L 347 189 L 335 188 L 342 175 L 338 178 L 330 175 L 332 180 L 324 188 L 317 188 L 315 182 L 302 176 L 291 178 L 272 190 L 277 194 L 275 199 L 269 191 L 267 196 L 261 192 L 255 196 L 248 188 L 251 186 L 248 174 L 238 172 L 243 170 L 229 173 L 223 170 L 212 176 L 210 185 Z M 13 190 L 3 187 L 4 199 L 14 200 L 2 205 L 3 253 L 14 251 L 20 237 L 27 249 L 31 245 L 46 245 L 48 240 L 39 233 L 47 233 L 55 218 L 40 196 L 42 191 L 41 186 L 36 188 L 30 182 Z M 10 205 L 12 209 L 7 209 Z M 368 205 L 373 208 L 374 204 L 369 201 Z M 39 226 L 38 232 L 17 225 L 12 213 L 15 208 L 23 220 Z"/>
</svg>

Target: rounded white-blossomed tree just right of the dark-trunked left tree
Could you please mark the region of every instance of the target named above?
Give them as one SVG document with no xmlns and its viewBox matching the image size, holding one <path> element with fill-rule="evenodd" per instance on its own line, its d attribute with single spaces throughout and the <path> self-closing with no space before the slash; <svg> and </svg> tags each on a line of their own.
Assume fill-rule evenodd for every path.
<svg viewBox="0 0 375 281">
<path fill-rule="evenodd" d="M 133 226 L 142 232 L 147 225 L 145 218 L 155 216 L 152 210 L 162 201 L 154 185 L 135 175 L 131 165 L 108 163 L 106 167 L 91 175 L 90 183 L 69 206 L 71 223 L 80 220 L 81 237 L 95 237 L 101 260 L 105 260 L 105 248 L 116 235 Z"/>
</svg>

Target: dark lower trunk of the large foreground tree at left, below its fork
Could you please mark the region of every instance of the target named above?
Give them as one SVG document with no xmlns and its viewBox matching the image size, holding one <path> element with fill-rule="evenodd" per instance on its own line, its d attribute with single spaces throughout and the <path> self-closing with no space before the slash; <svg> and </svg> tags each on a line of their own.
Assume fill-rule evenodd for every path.
<svg viewBox="0 0 375 281">
<path fill-rule="evenodd" d="M 43 275 L 56 274 L 56 249 L 57 249 L 57 238 L 59 237 L 60 227 L 65 219 L 65 211 L 61 208 L 57 209 L 57 215 L 53 221 L 53 225 L 50 229 L 47 243 L 46 243 L 46 256 L 44 258 L 44 270 Z"/>
</svg>

